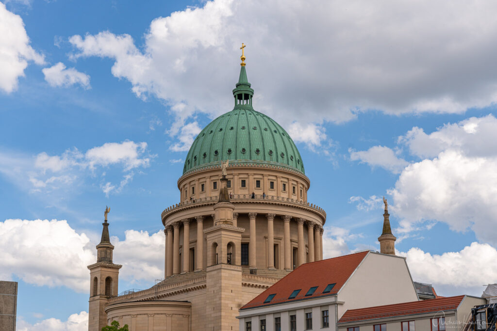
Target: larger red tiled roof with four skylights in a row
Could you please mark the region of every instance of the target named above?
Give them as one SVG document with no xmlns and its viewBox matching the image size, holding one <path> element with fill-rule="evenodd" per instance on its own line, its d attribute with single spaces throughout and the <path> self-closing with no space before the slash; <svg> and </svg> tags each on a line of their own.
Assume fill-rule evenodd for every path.
<svg viewBox="0 0 497 331">
<path fill-rule="evenodd" d="M 369 251 L 360 252 L 301 265 L 241 309 L 336 294 L 368 253 Z M 323 294 L 326 286 L 332 283 L 336 283 L 336 285 L 331 289 L 331 292 Z M 305 296 L 307 291 L 314 286 L 318 286 L 314 294 Z M 290 294 L 297 289 L 301 289 L 299 294 L 294 299 L 288 299 Z M 269 303 L 264 304 L 264 300 L 270 294 L 276 295 Z"/>
</svg>

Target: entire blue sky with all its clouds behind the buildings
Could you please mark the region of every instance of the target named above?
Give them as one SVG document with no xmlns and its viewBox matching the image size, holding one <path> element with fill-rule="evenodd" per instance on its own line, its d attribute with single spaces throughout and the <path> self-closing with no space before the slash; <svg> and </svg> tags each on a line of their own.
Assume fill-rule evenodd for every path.
<svg viewBox="0 0 497 331">
<path fill-rule="evenodd" d="M 328 213 L 325 257 L 379 249 L 385 196 L 414 280 L 480 295 L 497 275 L 496 12 L 0 3 L 0 278 L 19 282 L 18 327 L 85 330 L 106 205 L 120 291 L 163 277 L 160 214 L 195 135 L 231 110 L 242 42 L 254 108 L 290 133 Z"/>
</svg>

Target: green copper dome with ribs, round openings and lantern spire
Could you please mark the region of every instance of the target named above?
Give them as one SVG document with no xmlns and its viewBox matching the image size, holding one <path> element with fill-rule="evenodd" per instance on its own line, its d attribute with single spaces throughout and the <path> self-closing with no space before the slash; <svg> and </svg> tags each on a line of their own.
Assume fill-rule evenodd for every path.
<svg viewBox="0 0 497 331">
<path fill-rule="evenodd" d="M 183 174 L 222 160 L 236 163 L 275 165 L 299 171 L 304 164 L 288 133 L 275 121 L 252 108 L 253 89 L 245 66 L 233 90 L 235 108 L 221 115 L 193 141 L 183 167 Z"/>
</svg>

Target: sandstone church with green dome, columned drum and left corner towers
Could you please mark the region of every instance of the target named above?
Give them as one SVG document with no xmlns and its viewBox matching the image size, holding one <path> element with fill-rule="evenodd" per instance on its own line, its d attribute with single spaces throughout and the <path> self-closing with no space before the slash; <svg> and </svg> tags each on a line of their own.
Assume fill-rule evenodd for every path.
<svg viewBox="0 0 497 331">
<path fill-rule="evenodd" d="M 89 265 L 89 329 L 238 330 L 239 309 L 299 265 L 323 259 L 326 212 L 288 133 L 252 107 L 242 54 L 234 108 L 195 138 L 161 215 L 165 279 L 117 296 L 108 223 Z"/>
</svg>

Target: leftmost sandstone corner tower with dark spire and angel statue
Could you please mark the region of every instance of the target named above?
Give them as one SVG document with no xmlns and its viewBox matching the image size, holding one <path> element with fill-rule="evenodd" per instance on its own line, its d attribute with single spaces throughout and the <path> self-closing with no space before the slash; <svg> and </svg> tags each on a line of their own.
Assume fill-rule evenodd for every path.
<svg viewBox="0 0 497 331">
<path fill-rule="evenodd" d="M 107 214 L 110 208 L 105 208 L 105 220 L 102 223 L 102 238 L 96 246 L 96 263 L 88 265 L 90 270 L 90 299 L 88 309 L 88 331 L 100 331 L 107 325 L 105 307 L 108 300 L 117 296 L 119 269 L 122 265 L 112 263 L 114 246 L 110 243 L 109 223 Z"/>
</svg>

